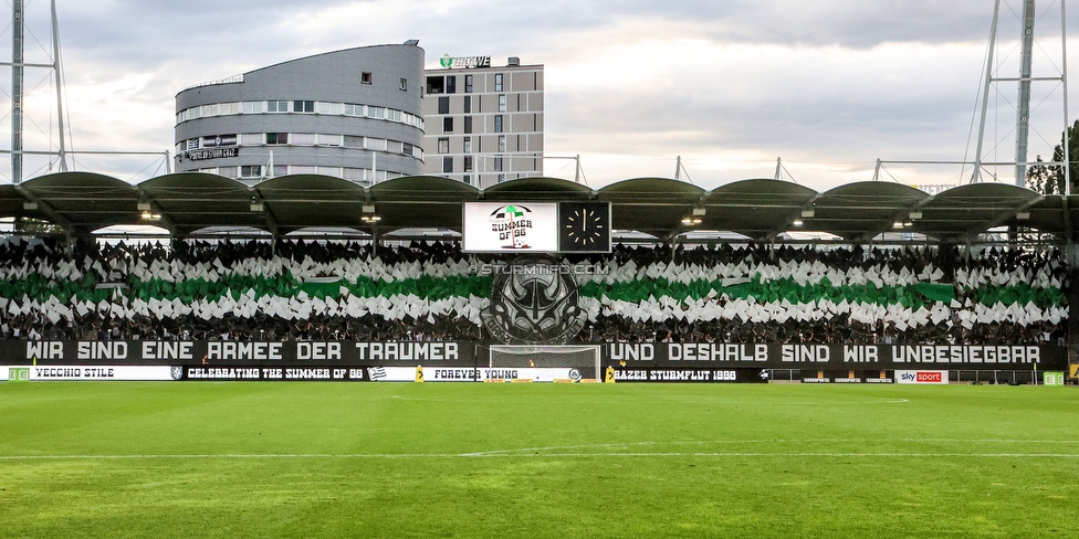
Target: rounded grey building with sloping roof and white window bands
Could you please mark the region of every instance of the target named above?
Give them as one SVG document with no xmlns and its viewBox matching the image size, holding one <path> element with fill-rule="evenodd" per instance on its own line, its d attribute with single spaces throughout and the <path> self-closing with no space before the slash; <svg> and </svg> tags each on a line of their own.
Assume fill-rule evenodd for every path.
<svg viewBox="0 0 1079 539">
<path fill-rule="evenodd" d="M 283 62 L 176 96 L 176 170 L 254 183 L 317 173 L 363 184 L 423 167 L 415 41 Z"/>
</svg>

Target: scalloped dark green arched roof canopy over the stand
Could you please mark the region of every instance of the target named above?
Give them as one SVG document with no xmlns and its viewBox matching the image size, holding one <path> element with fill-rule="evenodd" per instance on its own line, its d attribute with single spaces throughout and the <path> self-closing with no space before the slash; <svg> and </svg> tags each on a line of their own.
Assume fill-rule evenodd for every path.
<svg viewBox="0 0 1079 539">
<path fill-rule="evenodd" d="M 469 201 L 585 200 L 609 202 L 617 230 L 660 240 L 701 230 L 771 241 L 783 232 L 805 231 L 865 243 L 886 232 L 910 232 L 961 243 L 997 226 L 1070 240 L 1079 223 L 1079 198 L 1043 195 L 1004 183 L 965 184 L 930 195 L 890 182 L 858 182 L 817 192 L 788 181 L 748 179 L 709 191 L 669 178 L 627 179 L 600 189 L 556 178 L 524 178 L 479 190 L 431 176 L 365 188 L 316 175 L 247 186 L 192 172 L 137 184 L 91 172 L 61 172 L 0 186 L 0 218 L 46 221 L 75 234 L 154 224 L 177 236 L 219 226 L 279 235 L 304 229 L 385 235 L 402 229 L 460 231 L 462 207 Z M 687 218 L 690 224 L 683 223 Z"/>
</svg>

